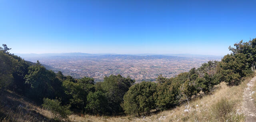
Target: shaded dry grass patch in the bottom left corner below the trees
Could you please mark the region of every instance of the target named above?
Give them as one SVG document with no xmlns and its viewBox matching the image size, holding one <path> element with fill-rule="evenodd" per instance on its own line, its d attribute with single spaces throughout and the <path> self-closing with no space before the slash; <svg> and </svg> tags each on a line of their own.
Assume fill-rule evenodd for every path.
<svg viewBox="0 0 256 122">
<path fill-rule="evenodd" d="M 50 112 L 20 95 L 4 91 L 0 95 L 0 121 L 2 122 L 49 122 Z"/>
</svg>

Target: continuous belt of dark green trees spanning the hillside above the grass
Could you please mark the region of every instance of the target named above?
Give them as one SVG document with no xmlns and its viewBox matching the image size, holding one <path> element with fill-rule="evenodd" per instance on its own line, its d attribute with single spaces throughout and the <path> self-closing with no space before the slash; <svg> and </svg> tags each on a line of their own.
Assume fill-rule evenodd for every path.
<svg viewBox="0 0 256 122">
<path fill-rule="evenodd" d="M 192 99 L 210 95 L 221 82 L 240 85 L 254 73 L 256 39 L 234 44 L 232 51 L 220 62 L 209 61 L 176 77 L 158 76 L 155 82 L 121 75 L 75 79 L 62 72 L 47 70 L 38 61 L 35 65 L 0 47 L 0 93 L 12 91 L 50 110 L 54 120 L 68 120 L 70 114 L 147 116 L 178 105 L 190 104 Z M 1 101 L 1 100 L 0 100 Z M 3 103 L 1 103 L 3 104 Z M 3 120 L 6 116 L 0 116 Z M 16 121 L 11 116 L 7 118 Z"/>
</svg>

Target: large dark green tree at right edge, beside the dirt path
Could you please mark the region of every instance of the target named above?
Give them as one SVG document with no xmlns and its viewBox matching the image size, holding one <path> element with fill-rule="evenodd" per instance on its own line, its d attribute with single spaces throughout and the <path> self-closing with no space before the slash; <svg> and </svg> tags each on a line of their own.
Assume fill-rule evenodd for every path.
<svg viewBox="0 0 256 122">
<path fill-rule="evenodd" d="M 232 51 L 222 58 L 220 62 L 221 80 L 228 85 L 238 85 L 242 77 L 252 74 L 256 64 L 256 39 L 248 42 L 240 41 L 229 47 Z"/>
</svg>

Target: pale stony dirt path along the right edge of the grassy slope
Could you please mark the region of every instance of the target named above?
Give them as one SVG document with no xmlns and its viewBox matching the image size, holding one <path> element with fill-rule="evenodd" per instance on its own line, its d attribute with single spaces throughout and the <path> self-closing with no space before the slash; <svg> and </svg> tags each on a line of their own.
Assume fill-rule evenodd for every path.
<svg viewBox="0 0 256 122">
<path fill-rule="evenodd" d="M 247 83 L 247 88 L 244 89 L 242 109 L 246 117 L 246 122 L 256 122 L 256 107 L 252 99 L 252 94 L 256 92 L 252 91 L 255 81 L 256 77 L 253 77 L 250 82 Z"/>
</svg>

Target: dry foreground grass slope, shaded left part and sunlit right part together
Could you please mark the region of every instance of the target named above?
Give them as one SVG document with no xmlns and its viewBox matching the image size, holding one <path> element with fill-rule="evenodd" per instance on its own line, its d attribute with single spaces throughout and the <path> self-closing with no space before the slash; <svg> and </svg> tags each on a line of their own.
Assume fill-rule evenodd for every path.
<svg viewBox="0 0 256 122">
<path fill-rule="evenodd" d="M 244 116 L 239 112 L 243 100 L 243 90 L 251 77 L 239 86 L 228 87 L 225 83 L 216 86 L 212 95 L 194 99 L 190 105 L 181 105 L 172 110 L 159 112 L 150 116 L 92 116 L 71 115 L 71 121 L 80 122 L 128 122 L 128 121 L 244 121 Z M 222 101 L 221 101 L 222 100 Z M 224 105 L 223 105 L 224 102 Z M 219 115 L 221 108 L 229 109 L 227 116 Z M 188 109 L 189 112 L 184 110 Z M 25 98 L 6 91 L 0 96 L 0 118 L 4 121 L 50 121 L 51 115 L 47 110 L 28 102 Z M 223 117 L 223 119 L 221 119 Z"/>
</svg>

